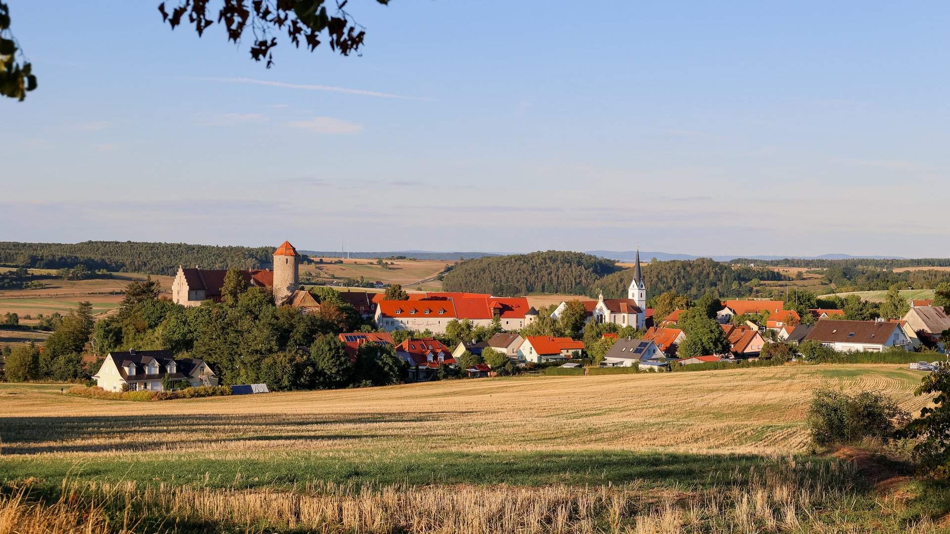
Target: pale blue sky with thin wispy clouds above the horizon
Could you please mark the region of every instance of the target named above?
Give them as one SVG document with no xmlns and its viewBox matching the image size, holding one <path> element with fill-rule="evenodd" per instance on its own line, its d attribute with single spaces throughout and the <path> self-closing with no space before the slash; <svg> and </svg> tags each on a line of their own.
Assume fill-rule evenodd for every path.
<svg viewBox="0 0 950 534">
<path fill-rule="evenodd" d="M 351 0 L 361 56 L 270 69 L 8 3 L 0 240 L 950 257 L 945 1 Z"/>
</svg>

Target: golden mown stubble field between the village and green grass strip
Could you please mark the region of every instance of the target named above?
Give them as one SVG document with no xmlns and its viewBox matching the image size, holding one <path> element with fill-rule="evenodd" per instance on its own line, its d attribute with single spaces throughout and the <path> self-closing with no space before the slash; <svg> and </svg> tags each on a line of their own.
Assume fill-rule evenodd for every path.
<svg viewBox="0 0 950 534">
<path fill-rule="evenodd" d="M 0 436 L 5 454 L 131 449 L 239 457 L 418 447 L 786 453 L 807 446 L 812 389 L 879 390 L 918 410 L 926 402 L 912 394 L 919 380 L 896 365 L 837 365 L 462 380 L 162 403 L 0 389 Z M 161 440 L 143 440 L 142 432 Z M 268 439 L 255 439 L 261 436 Z"/>
</svg>

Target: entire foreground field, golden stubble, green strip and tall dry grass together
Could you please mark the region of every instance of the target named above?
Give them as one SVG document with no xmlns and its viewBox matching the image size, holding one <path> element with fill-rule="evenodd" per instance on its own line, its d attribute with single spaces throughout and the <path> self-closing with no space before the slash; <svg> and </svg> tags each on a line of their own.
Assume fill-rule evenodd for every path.
<svg viewBox="0 0 950 534">
<path fill-rule="evenodd" d="M 881 501 L 849 464 L 809 455 L 804 427 L 818 386 L 916 411 L 920 378 L 786 366 L 153 403 L 3 384 L 0 481 L 211 532 L 937 532 L 920 488 Z"/>
</svg>

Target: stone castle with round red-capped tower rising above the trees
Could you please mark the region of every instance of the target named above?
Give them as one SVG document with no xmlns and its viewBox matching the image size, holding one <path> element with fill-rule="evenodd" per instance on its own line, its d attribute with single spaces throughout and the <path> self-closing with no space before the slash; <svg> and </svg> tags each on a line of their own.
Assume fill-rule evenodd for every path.
<svg viewBox="0 0 950 534">
<path fill-rule="evenodd" d="M 302 300 L 299 293 L 300 255 L 294 245 L 284 241 L 274 251 L 274 269 L 251 269 L 241 271 L 244 282 L 248 286 L 257 286 L 270 289 L 274 293 L 276 305 L 289 304 L 291 301 Z M 221 300 L 221 287 L 224 286 L 225 269 L 184 269 L 179 271 L 172 282 L 172 301 L 182 306 L 198 306 L 205 300 Z M 306 306 L 304 303 L 298 305 Z M 314 303 L 315 305 L 315 303 Z"/>
</svg>

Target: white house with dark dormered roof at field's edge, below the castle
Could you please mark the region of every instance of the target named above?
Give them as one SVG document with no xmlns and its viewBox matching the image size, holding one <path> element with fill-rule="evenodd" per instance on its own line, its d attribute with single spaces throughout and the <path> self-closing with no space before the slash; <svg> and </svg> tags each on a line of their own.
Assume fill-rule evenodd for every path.
<svg viewBox="0 0 950 534">
<path fill-rule="evenodd" d="M 92 377 L 105 391 L 163 391 L 161 380 L 187 382 L 192 387 L 217 386 L 218 376 L 203 360 L 175 359 L 171 351 L 113 352 Z"/>
</svg>

